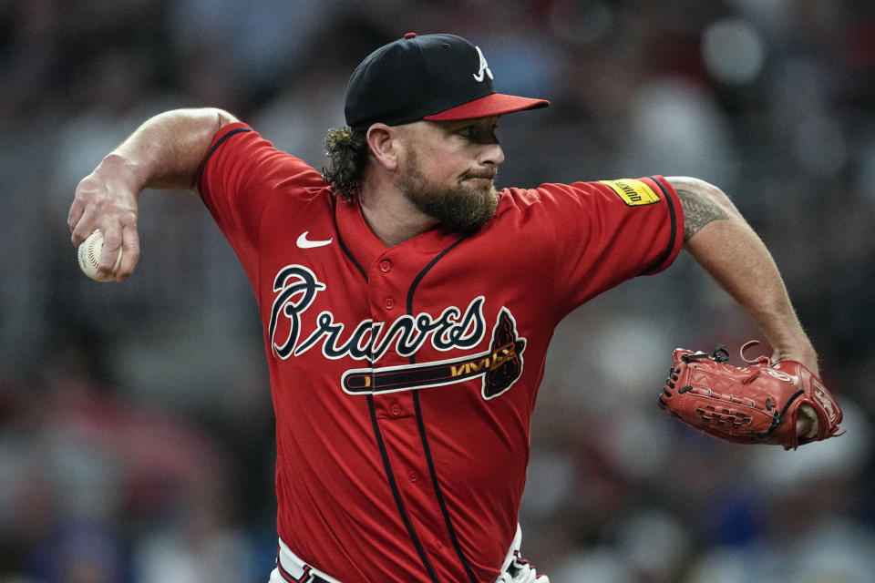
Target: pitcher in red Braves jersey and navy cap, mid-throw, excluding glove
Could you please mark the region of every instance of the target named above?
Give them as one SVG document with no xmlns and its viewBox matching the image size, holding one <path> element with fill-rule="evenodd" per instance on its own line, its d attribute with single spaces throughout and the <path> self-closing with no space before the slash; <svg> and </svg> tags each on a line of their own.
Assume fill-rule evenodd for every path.
<svg viewBox="0 0 875 583">
<path fill-rule="evenodd" d="M 486 54 L 407 34 L 347 87 L 324 173 L 219 109 L 149 119 L 83 179 L 75 245 L 101 274 L 139 256 L 142 189 L 196 192 L 261 313 L 276 415 L 271 583 L 548 579 L 520 557 L 530 417 L 561 319 L 688 251 L 776 360 L 817 357 L 767 249 L 702 180 L 649 176 L 496 191 Z M 800 416 L 798 432 L 812 429 Z"/>
</svg>

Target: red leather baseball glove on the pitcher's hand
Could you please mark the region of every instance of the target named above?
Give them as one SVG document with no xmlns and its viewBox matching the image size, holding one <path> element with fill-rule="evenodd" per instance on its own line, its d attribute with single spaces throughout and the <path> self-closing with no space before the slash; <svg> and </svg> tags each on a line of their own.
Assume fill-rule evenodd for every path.
<svg viewBox="0 0 875 583">
<path fill-rule="evenodd" d="M 757 343 L 754 341 L 753 343 Z M 744 358 L 746 343 L 741 348 Z M 796 361 L 771 363 L 766 356 L 749 366 L 727 364 L 729 352 L 717 346 L 706 354 L 677 348 L 659 405 L 706 434 L 739 444 L 775 444 L 784 449 L 837 434 L 841 409 L 814 373 Z M 797 435 L 803 404 L 817 423 Z M 803 414 L 811 415 L 808 408 Z M 813 419 L 812 419 L 813 420 Z"/>
</svg>

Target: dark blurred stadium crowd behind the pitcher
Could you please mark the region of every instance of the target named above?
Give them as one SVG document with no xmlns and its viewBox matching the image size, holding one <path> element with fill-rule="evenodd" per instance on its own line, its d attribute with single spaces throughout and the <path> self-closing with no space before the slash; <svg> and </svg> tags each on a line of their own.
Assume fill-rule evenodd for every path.
<svg viewBox="0 0 875 583">
<path fill-rule="evenodd" d="M 228 109 L 321 168 L 346 78 L 408 31 L 467 36 L 499 90 L 551 99 L 502 119 L 499 186 L 659 173 L 725 189 L 845 410 L 847 435 L 796 452 L 660 411 L 674 346 L 725 343 L 741 363 L 757 338 L 682 256 L 561 324 L 526 556 L 556 583 L 875 580 L 870 0 L 3 0 L 0 582 L 266 581 L 273 413 L 230 247 L 190 194 L 146 192 L 137 271 L 97 283 L 67 210 L 173 107 Z"/>
</svg>

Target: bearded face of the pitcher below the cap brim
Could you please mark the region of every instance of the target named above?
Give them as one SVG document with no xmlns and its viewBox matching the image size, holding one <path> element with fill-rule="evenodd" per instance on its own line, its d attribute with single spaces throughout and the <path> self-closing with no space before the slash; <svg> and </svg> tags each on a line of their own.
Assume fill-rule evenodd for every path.
<svg viewBox="0 0 875 583">
<path fill-rule="evenodd" d="M 418 210 L 443 226 L 478 230 L 495 214 L 495 176 L 504 153 L 498 117 L 410 124 L 398 186 Z"/>
</svg>

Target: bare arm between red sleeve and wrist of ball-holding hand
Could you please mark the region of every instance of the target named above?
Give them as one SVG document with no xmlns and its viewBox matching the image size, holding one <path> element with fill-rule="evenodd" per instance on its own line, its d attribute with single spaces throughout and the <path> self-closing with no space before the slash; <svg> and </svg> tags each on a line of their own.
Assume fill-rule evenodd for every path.
<svg viewBox="0 0 875 583">
<path fill-rule="evenodd" d="M 222 126 L 236 121 L 214 108 L 175 109 L 149 118 L 118 148 L 101 161 L 129 187 L 141 189 L 193 189 L 195 174 Z"/>
</svg>

